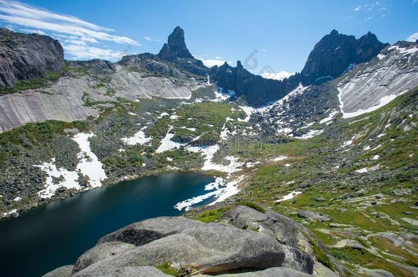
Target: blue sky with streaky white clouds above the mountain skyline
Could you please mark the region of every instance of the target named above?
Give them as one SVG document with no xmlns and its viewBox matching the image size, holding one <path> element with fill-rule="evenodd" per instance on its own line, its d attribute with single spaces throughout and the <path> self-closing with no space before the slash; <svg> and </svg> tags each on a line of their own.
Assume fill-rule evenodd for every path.
<svg viewBox="0 0 418 277">
<path fill-rule="evenodd" d="M 332 29 L 382 42 L 418 39 L 418 0 L 0 0 L 0 26 L 60 40 L 68 60 L 158 53 L 176 26 L 207 66 L 241 60 L 254 74 L 300 72 Z"/>
</svg>

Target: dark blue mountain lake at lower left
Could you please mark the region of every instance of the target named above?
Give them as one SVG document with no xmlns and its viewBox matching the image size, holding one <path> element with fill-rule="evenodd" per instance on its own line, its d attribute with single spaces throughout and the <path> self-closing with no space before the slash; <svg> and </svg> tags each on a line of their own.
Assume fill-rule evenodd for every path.
<svg viewBox="0 0 418 277">
<path fill-rule="evenodd" d="M 41 276 L 74 264 L 103 235 L 150 217 L 179 215 L 173 206 L 207 193 L 212 181 L 199 174 L 149 176 L 0 220 L 0 276 Z"/>
</svg>

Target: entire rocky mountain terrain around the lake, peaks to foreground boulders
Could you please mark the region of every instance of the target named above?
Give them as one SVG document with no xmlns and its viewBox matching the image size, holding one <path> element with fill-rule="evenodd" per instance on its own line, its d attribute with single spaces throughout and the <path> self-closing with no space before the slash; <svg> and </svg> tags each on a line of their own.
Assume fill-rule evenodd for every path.
<svg viewBox="0 0 418 277">
<path fill-rule="evenodd" d="M 206 67 L 180 27 L 158 54 L 119 62 L 0 34 L 2 217 L 140 176 L 217 177 L 175 205 L 190 220 L 117 230 L 64 276 L 186 274 L 169 251 L 205 274 L 417 275 L 418 42 L 332 30 L 278 81 Z"/>
</svg>

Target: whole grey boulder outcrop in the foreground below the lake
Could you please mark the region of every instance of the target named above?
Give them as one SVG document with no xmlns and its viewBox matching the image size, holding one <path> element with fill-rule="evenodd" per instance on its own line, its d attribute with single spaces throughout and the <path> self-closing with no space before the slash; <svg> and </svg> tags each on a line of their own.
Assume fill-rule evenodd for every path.
<svg viewBox="0 0 418 277">
<path fill-rule="evenodd" d="M 306 252 L 310 244 L 303 233 L 309 231 L 302 225 L 273 211 L 260 213 L 243 206 L 221 219 L 204 224 L 157 217 L 131 224 L 82 254 L 71 276 L 165 276 L 155 268 L 162 263 L 225 274 L 220 276 L 312 274 L 315 260 Z"/>
</svg>

